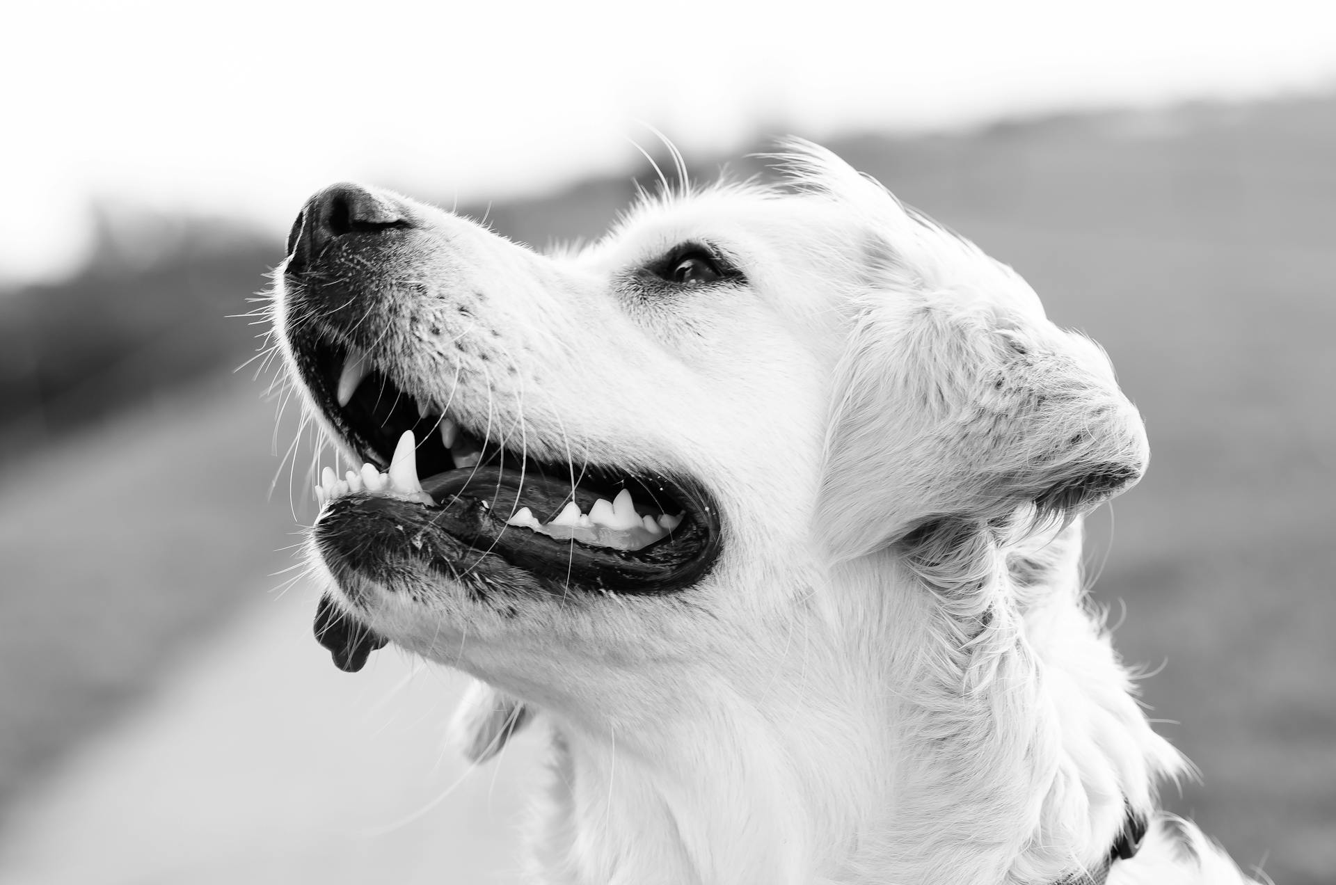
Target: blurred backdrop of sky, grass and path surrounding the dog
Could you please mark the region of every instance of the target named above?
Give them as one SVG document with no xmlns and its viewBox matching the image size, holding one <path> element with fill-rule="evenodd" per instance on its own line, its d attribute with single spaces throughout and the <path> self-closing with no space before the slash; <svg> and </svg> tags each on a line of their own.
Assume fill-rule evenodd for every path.
<svg viewBox="0 0 1336 885">
<path fill-rule="evenodd" d="M 5 12 L 0 882 L 514 880 L 536 742 L 466 773 L 454 676 L 338 674 L 279 592 L 310 455 L 234 315 L 323 184 L 541 247 L 652 184 L 656 128 L 699 180 L 820 140 L 1104 344 L 1154 459 L 1089 560 L 1202 771 L 1165 801 L 1332 881 L 1328 3 L 370 8 Z"/>
</svg>

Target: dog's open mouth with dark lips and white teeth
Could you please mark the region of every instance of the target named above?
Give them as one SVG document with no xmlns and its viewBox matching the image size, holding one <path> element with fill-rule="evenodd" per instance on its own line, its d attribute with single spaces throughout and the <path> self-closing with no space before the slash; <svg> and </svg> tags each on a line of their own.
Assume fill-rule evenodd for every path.
<svg viewBox="0 0 1336 885">
<path fill-rule="evenodd" d="M 420 524 L 425 509 L 433 529 L 477 556 L 561 591 L 671 592 L 717 557 L 717 507 L 693 479 L 536 460 L 415 400 L 354 346 L 294 344 L 318 406 L 366 461 L 342 477 L 326 468 L 318 535 L 327 519 L 358 511 L 411 508 Z"/>
</svg>

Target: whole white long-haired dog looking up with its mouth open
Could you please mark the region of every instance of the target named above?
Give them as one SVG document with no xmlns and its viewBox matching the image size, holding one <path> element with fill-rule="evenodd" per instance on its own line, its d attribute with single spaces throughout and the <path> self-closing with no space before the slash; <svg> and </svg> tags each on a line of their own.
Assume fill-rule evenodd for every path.
<svg viewBox="0 0 1336 885">
<path fill-rule="evenodd" d="M 1249 881 L 1156 790 L 1083 596 L 1149 457 L 1105 353 L 1010 267 L 800 140 L 540 254 L 357 184 L 273 324 L 359 469 L 315 488 L 315 632 L 550 730 L 537 882 Z"/>
</svg>

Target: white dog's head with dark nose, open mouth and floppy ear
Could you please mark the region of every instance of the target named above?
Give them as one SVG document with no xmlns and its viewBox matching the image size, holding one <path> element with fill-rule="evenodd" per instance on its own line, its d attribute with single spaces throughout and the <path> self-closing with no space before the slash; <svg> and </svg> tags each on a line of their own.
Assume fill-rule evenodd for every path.
<svg viewBox="0 0 1336 885">
<path fill-rule="evenodd" d="M 1141 476 L 1108 360 L 1015 273 L 820 148 L 784 160 L 562 254 L 311 198 L 275 322 L 371 465 L 326 473 L 310 535 L 343 666 L 389 639 L 633 731 L 768 690 L 802 612 L 856 627 L 812 604 L 832 570 L 903 564 L 914 588 L 874 592 L 958 603 L 1025 528 Z"/>
</svg>

